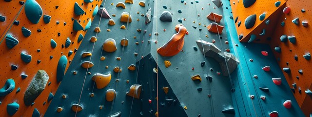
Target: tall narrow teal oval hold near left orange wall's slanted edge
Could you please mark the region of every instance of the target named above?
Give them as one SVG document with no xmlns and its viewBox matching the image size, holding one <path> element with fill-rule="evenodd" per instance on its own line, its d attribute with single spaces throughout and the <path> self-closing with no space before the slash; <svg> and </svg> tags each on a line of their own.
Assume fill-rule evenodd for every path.
<svg viewBox="0 0 312 117">
<path fill-rule="evenodd" d="M 67 66 L 67 58 L 65 55 L 59 58 L 58 68 L 57 68 L 57 81 L 60 82 L 64 78 L 65 68 Z"/>
</svg>

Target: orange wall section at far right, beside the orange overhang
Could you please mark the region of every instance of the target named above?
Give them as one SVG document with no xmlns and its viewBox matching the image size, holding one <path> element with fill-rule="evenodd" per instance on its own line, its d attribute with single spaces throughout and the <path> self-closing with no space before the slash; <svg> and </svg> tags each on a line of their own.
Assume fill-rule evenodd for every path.
<svg viewBox="0 0 312 117">
<path fill-rule="evenodd" d="M 308 117 L 312 113 L 312 1 L 288 0 L 283 9 L 270 45 L 294 97 Z"/>
</svg>

